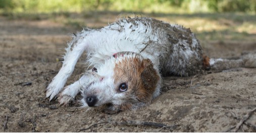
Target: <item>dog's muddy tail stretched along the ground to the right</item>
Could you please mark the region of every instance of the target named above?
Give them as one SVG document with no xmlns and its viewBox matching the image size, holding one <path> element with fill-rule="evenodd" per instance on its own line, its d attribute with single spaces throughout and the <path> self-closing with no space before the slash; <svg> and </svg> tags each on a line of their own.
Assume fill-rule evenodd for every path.
<svg viewBox="0 0 256 133">
<path fill-rule="evenodd" d="M 203 57 L 204 69 L 211 70 L 228 70 L 233 68 L 256 68 L 256 53 L 243 53 L 234 58 L 209 58 Z"/>
</svg>

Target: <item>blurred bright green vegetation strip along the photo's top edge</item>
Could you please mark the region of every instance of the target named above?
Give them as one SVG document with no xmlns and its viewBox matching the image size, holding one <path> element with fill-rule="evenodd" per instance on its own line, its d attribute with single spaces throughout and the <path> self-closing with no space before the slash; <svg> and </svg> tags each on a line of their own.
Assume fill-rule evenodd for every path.
<svg viewBox="0 0 256 133">
<path fill-rule="evenodd" d="M 2 12 L 53 13 L 133 11 L 143 13 L 255 13 L 255 0 L 1 0 Z"/>
</svg>

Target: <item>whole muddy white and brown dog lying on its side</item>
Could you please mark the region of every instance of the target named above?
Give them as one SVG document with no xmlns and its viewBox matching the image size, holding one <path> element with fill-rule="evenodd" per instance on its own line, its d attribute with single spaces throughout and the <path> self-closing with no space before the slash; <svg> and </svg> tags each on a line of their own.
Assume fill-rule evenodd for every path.
<svg viewBox="0 0 256 133">
<path fill-rule="evenodd" d="M 84 52 L 87 71 L 64 87 Z M 108 105 L 107 110 L 124 111 L 148 105 L 159 96 L 163 75 L 191 76 L 202 69 L 255 66 L 255 54 L 237 60 L 203 56 L 194 33 L 183 26 L 127 17 L 74 34 L 46 97 L 58 97 L 60 104 L 67 105 L 81 92 L 83 107 Z"/>
</svg>

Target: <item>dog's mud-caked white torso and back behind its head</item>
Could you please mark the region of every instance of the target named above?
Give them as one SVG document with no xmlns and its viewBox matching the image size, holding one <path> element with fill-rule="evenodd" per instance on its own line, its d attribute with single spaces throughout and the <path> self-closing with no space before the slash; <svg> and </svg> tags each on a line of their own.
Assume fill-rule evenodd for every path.
<svg viewBox="0 0 256 133">
<path fill-rule="evenodd" d="M 89 34 L 95 40 L 94 48 L 86 49 L 91 64 L 113 53 L 132 51 L 150 59 L 163 75 L 189 76 L 202 66 L 199 41 L 179 25 L 145 17 L 122 18 Z"/>
</svg>

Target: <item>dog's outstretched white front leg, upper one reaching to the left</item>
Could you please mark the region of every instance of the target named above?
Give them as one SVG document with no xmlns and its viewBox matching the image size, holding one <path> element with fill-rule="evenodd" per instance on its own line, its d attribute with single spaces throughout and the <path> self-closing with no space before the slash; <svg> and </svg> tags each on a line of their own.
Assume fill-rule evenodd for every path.
<svg viewBox="0 0 256 133">
<path fill-rule="evenodd" d="M 69 47 L 66 49 L 67 53 L 64 57 L 64 62 L 59 73 L 53 78 L 52 82 L 46 88 L 46 97 L 52 100 L 64 87 L 70 75 L 73 73 L 74 67 L 85 49 L 89 46 L 85 41 L 78 40 L 78 37 L 73 39 Z"/>
</svg>

